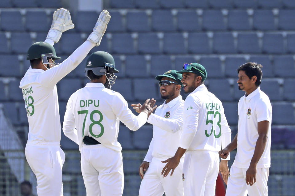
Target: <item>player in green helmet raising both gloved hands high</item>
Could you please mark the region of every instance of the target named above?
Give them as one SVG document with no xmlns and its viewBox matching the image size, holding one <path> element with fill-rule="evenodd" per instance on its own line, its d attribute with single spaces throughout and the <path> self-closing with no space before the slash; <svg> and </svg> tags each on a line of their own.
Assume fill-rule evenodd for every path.
<svg viewBox="0 0 295 196">
<path fill-rule="evenodd" d="M 56 55 L 53 45 L 59 41 L 62 32 L 74 28 L 67 9 L 57 9 L 46 40 L 29 47 L 27 60 L 31 67 L 19 87 L 29 122 L 25 154 L 37 178 L 38 195 L 63 195 L 65 153 L 60 148 L 61 122 L 56 84 L 75 69 L 94 46 L 100 44 L 110 17 L 108 11 L 103 10 L 88 39 L 61 64 L 54 62 L 61 58 Z"/>
</svg>

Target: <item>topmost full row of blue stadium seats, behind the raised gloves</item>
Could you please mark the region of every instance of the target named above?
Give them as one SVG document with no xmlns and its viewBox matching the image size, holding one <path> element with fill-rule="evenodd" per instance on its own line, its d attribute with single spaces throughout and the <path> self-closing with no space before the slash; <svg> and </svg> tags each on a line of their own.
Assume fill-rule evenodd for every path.
<svg viewBox="0 0 295 196">
<path fill-rule="evenodd" d="M 18 1 L 21 2 L 21 0 Z M 221 10 L 203 10 L 199 15 L 196 10 L 181 9 L 177 12 L 171 10 L 153 10 L 151 16 L 145 10 L 128 10 L 126 16 L 125 14 L 123 16 L 119 10 L 115 9 L 110 10 L 110 14 L 112 20 L 108 25 L 107 32 L 295 30 L 292 18 L 295 10 L 290 9 L 280 9 L 277 17 L 271 9 L 255 9 L 253 16 L 249 15 L 246 9 L 229 10 L 226 15 Z M 71 31 L 91 32 L 98 15 L 99 13 L 94 11 L 77 12 L 75 17 L 73 17 L 76 28 Z M 52 14 L 48 15 L 45 10 L 27 11 L 25 24 L 22 22 L 22 17 L 22 14 L 18 10 L 2 11 L 0 29 L 2 31 L 47 32 L 52 20 Z M 124 22 L 125 17 L 126 22 Z M 200 22 L 201 20 L 199 21 L 199 17 L 203 19 L 203 22 Z M 250 20 L 252 17 L 253 22 Z M 227 18 L 227 20 L 224 20 L 224 18 Z"/>
</svg>

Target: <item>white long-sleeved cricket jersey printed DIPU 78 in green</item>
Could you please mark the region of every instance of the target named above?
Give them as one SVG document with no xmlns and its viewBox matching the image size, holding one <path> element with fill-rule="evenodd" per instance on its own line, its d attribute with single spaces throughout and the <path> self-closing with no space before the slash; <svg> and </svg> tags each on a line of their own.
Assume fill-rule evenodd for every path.
<svg viewBox="0 0 295 196">
<path fill-rule="evenodd" d="M 84 136 L 89 136 L 110 149 L 121 151 L 117 140 L 119 121 L 136 131 L 147 119 L 144 112 L 134 115 L 119 92 L 104 88 L 102 83 L 90 82 L 70 96 L 62 129 L 80 150 Z"/>
</svg>

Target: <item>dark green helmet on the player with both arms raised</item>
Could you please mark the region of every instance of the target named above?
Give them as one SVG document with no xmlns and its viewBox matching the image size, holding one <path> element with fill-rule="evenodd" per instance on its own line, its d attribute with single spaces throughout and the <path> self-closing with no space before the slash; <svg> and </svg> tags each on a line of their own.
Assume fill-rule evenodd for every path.
<svg viewBox="0 0 295 196">
<path fill-rule="evenodd" d="M 46 42 L 33 43 L 27 52 L 27 60 L 41 58 L 43 54 L 53 54 L 53 59 L 61 59 L 55 53 L 55 49 L 52 45 Z"/>
</svg>

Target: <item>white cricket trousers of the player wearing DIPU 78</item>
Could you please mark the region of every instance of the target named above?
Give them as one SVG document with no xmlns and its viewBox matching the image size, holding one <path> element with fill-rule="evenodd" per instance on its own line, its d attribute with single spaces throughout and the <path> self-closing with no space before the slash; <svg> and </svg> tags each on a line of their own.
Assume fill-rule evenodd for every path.
<svg viewBox="0 0 295 196">
<path fill-rule="evenodd" d="M 81 170 L 87 196 L 121 196 L 124 188 L 122 153 L 102 144 L 81 148 Z"/>
</svg>

